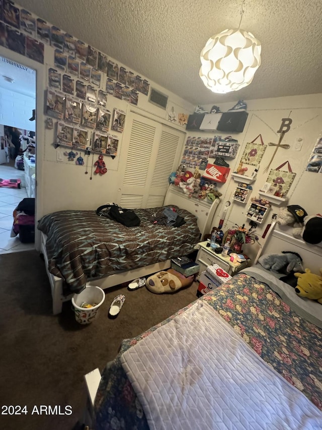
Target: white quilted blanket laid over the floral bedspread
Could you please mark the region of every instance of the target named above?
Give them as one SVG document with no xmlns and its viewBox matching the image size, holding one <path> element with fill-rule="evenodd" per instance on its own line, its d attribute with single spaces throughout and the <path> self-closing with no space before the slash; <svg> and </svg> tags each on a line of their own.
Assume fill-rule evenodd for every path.
<svg viewBox="0 0 322 430">
<path fill-rule="evenodd" d="M 121 361 L 151 430 L 322 428 L 322 413 L 207 303 L 157 328 Z"/>
</svg>

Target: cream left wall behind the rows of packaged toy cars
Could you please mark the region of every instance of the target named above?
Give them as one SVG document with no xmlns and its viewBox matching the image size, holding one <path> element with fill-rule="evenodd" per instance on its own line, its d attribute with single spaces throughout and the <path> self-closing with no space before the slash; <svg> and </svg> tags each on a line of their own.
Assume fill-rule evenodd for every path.
<svg viewBox="0 0 322 430">
<path fill-rule="evenodd" d="M 19 4 L 13 4 L 13 7 L 20 8 Z M 37 19 L 37 16 L 33 16 Z M 2 20 L 0 15 L 0 20 Z M 55 23 L 47 23 L 54 25 Z M 8 23 L 0 21 L 1 30 L 3 32 L 5 26 Z M 12 26 L 7 27 L 13 30 Z M 63 29 L 62 29 L 63 30 Z M 120 166 L 126 160 L 126 153 L 122 151 L 123 142 L 129 138 L 130 130 L 127 127 L 125 119 L 125 128 L 123 133 L 113 132 L 119 138 L 118 153 L 115 159 L 105 156 L 104 161 L 107 167 L 107 173 L 104 175 L 93 174 L 93 179 L 90 180 L 91 176 L 91 164 L 92 156 L 89 158 L 88 169 L 86 169 L 86 163 L 83 166 L 75 164 L 75 161 L 68 161 L 67 156 L 64 154 L 70 149 L 66 147 L 55 148 L 54 143 L 56 142 L 56 119 L 53 119 L 54 128 L 48 130 L 45 127 L 45 101 L 46 101 L 46 89 L 48 86 L 48 68 L 55 68 L 54 65 L 54 49 L 55 47 L 50 46 L 43 40 L 40 40 L 36 34 L 28 34 L 24 29 L 20 29 L 22 34 L 25 36 L 32 37 L 41 43 L 44 43 L 44 58 L 43 64 L 22 55 L 18 52 L 8 49 L 6 46 L 10 46 L 8 40 L 3 37 L 3 33 L 0 39 L 0 45 L 2 45 L 2 55 L 5 57 L 26 65 L 37 72 L 37 91 L 36 91 L 36 141 L 37 141 L 37 153 L 36 153 L 36 176 L 37 176 L 37 189 L 36 189 L 36 216 L 39 219 L 46 213 L 62 210 L 62 209 L 96 209 L 98 206 L 107 202 L 117 201 L 117 188 L 118 184 L 122 180 Z M 17 33 L 18 35 L 20 33 Z M 87 41 L 84 41 L 87 43 Z M 11 46 L 16 47 L 16 44 L 11 42 Z M 104 52 L 108 56 L 108 52 Z M 117 59 L 108 56 L 109 60 L 117 62 L 119 67 L 123 66 L 127 71 L 131 71 L 134 75 L 137 75 L 136 71 L 129 69 L 126 65 L 118 62 Z M 64 72 L 60 71 L 62 74 Z M 68 74 L 68 72 L 67 72 Z M 168 98 L 167 109 L 155 106 L 148 101 L 148 96 L 142 93 L 138 95 L 137 106 L 129 104 L 127 101 L 120 100 L 113 95 L 107 97 L 107 108 L 113 112 L 113 109 L 121 109 L 126 115 L 130 111 L 135 111 L 144 116 L 148 116 L 155 119 L 158 122 L 162 122 L 176 130 L 185 132 L 185 126 L 180 125 L 178 121 L 178 114 L 184 113 L 189 114 L 193 111 L 194 106 L 189 102 L 183 100 L 177 95 L 169 92 L 165 88 L 160 87 L 152 81 L 149 81 L 148 76 L 140 75 L 142 80 L 146 79 L 151 87 L 158 90 L 159 92 L 166 94 Z M 102 81 L 100 88 L 105 90 L 106 74 L 102 73 Z M 76 80 L 76 78 L 75 78 Z M 85 82 L 86 83 L 86 82 Z M 176 113 L 176 119 L 169 115 L 171 112 Z M 91 146 L 91 142 L 88 142 L 88 146 Z M 142 148 L 144 151 L 144 147 Z M 80 154 L 80 151 L 78 155 Z M 83 152 L 84 157 L 84 152 Z M 85 158 L 85 157 L 84 157 Z M 93 162 L 98 158 L 98 154 L 94 157 Z M 85 160 L 86 161 L 86 160 Z M 85 174 L 88 170 L 89 174 Z M 95 170 L 95 168 L 94 168 Z M 133 173 L 133 181 L 135 181 L 135 174 Z"/>
</svg>

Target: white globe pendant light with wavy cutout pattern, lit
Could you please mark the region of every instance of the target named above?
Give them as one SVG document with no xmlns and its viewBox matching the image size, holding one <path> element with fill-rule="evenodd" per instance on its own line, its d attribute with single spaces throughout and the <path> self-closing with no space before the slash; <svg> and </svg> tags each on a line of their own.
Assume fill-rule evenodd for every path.
<svg viewBox="0 0 322 430">
<path fill-rule="evenodd" d="M 212 36 L 201 51 L 199 76 L 214 93 L 225 94 L 246 87 L 261 65 L 261 43 L 252 33 L 240 29 L 241 18 L 238 28 Z"/>
</svg>

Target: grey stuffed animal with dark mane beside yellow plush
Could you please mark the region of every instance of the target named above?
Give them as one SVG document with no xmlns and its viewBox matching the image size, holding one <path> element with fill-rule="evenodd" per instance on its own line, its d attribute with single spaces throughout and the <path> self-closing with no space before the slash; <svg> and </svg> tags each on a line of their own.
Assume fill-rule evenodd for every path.
<svg viewBox="0 0 322 430">
<path fill-rule="evenodd" d="M 292 251 L 282 251 L 279 254 L 264 254 L 258 262 L 266 270 L 275 273 L 289 274 L 293 272 L 304 272 L 301 257 Z"/>
</svg>

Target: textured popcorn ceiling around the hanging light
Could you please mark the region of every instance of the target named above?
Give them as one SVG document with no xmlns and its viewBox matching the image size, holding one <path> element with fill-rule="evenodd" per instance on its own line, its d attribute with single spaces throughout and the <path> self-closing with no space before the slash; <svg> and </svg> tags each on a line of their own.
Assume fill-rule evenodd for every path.
<svg viewBox="0 0 322 430">
<path fill-rule="evenodd" d="M 212 35 L 238 27 L 235 0 L 20 0 L 19 5 L 193 104 L 322 93 L 322 2 L 246 0 L 241 28 L 262 43 L 252 84 L 217 95 L 199 78 Z"/>
</svg>

